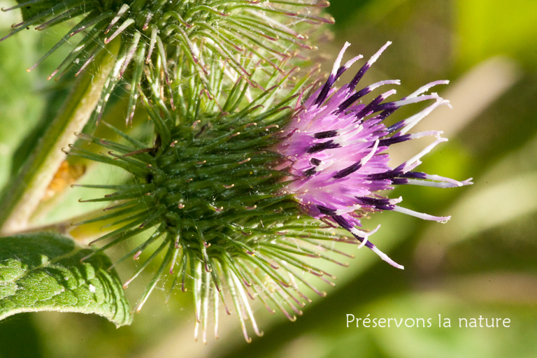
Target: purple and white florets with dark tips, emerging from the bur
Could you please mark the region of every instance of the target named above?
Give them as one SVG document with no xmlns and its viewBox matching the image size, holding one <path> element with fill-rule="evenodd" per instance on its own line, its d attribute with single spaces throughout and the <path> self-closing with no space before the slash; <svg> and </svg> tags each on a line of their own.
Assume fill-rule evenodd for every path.
<svg viewBox="0 0 537 358">
<path fill-rule="evenodd" d="M 286 157 L 280 169 L 286 168 L 289 175 L 296 179 L 289 182 L 285 192 L 296 194 L 296 200 L 309 215 L 343 227 L 361 241 L 361 245 L 366 245 L 392 266 L 403 268 L 368 241 L 368 236 L 377 231 L 378 227 L 373 231 L 359 229 L 360 217 L 382 210 L 438 222 L 445 222 L 450 217 L 402 208 L 397 205 L 401 198 L 388 199 L 378 192 L 401 184 L 460 187 L 471 184 L 471 179 L 459 182 L 414 171 L 422 163 L 420 159 L 425 154 L 438 143 L 447 141 L 440 136 L 441 131 L 415 134 L 408 134 L 408 131 L 434 108 L 449 103 L 436 93 L 427 94 L 431 87 L 447 84 L 448 81 L 429 83 L 397 101 L 385 101 L 396 93 L 395 90 L 389 90 L 369 103 L 361 103 L 360 99 L 376 88 L 400 83 L 399 80 L 383 80 L 361 90 L 356 89 L 364 73 L 390 44 L 388 42 L 382 46 L 359 69 L 350 83 L 337 89 L 334 87 L 336 80 L 361 59 L 361 56 L 354 57 L 340 67 L 343 54 L 350 46 L 350 43 L 345 43 L 328 80 L 298 108 L 285 130 L 284 139 L 275 146 L 275 151 Z M 383 124 L 398 108 L 422 101 L 432 103 L 419 113 L 389 127 Z M 388 165 L 389 145 L 422 136 L 435 136 L 436 141 L 396 168 Z"/>
</svg>

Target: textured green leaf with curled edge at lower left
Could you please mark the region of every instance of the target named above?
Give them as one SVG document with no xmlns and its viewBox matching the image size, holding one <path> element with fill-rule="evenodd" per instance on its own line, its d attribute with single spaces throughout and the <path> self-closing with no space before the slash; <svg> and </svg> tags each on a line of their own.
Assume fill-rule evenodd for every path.
<svg viewBox="0 0 537 358">
<path fill-rule="evenodd" d="M 131 310 L 111 262 L 57 234 L 0 238 L 0 320 L 43 310 L 94 313 L 116 327 L 131 322 Z"/>
</svg>

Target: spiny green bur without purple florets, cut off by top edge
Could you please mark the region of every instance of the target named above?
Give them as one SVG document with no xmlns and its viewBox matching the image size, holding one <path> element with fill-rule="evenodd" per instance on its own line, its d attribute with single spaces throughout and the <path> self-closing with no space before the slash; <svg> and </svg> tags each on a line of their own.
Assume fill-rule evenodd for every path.
<svg viewBox="0 0 537 358">
<path fill-rule="evenodd" d="M 13 24 L 13 31 L 0 41 L 30 26 L 44 30 L 80 17 L 78 23 L 29 68 L 30 71 L 64 43 L 72 43 L 73 36 L 81 34 L 80 41 L 50 79 L 60 71 L 63 75 L 71 69 L 77 76 L 106 44 L 120 37 L 117 62 L 103 89 L 96 118 L 99 120 L 111 92 L 126 75 L 130 85 L 127 114 L 130 122 L 144 73 L 145 76 L 163 76 L 171 93 L 169 84 L 176 77 L 170 66 L 178 61 L 191 63 L 197 75 L 207 79 L 211 76 L 210 60 L 216 57 L 217 63 L 223 63 L 222 59 L 227 59 L 230 76 L 243 76 L 254 87 L 257 83 L 250 79 L 252 73 L 241 64 L 241 57 L 266 62 L 284 72 L 278 62 L 291 58 L 299 48 L 312 48 L 306 43 L 313 29 L 311 24 L 333 21 L 317 15 L 319 8 L 326 6 L 329 3 L 324 0 L 311 3 L 291 0 L 19 1 L 16 6 L 2 10 L 20 8 L 23 21 Z M 151 67 L 152 71 L 148 71 Z M 173 101 L 171 106 L 173 109 Z"/>
</svg>

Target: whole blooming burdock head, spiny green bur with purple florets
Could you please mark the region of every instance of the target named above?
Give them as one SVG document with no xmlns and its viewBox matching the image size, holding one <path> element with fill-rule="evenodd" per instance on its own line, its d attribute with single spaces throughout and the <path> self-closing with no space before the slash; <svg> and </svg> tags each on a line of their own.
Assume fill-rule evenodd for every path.
<svg viewBox="0 0 537 358">
<path fill-rule="evenodd" d="M 120 185 L 85 185 L 114 190 L 103 198 L 90 199 L 109 202 L 110 206 L 106 214 L 81 224 L 108 220 L 109 226 L 117 227 L 94 243 L 105 243 L 99 250 L 106 250 L 138 234 L 148 236 L 118 261 L 141 258 L 125 287 L 163 256 L 136 310 L 142 308 L 167 271 L 173 281 L 170 292 L 180 287 L 193 293 L 196 337 L 201 328 L 206 341 L 210 311 L 215 314 L 217 336 L 218 307 L 222 305 L 228 313 L 234 308 L 245 339 L 250 341 L 246 319 L 255 333 L 262 335 L 250 299 L 261 301 L 271 313 L 278 309 L 294 320 L 310 301 L 308 292 L 324 296 L 315 281 L 331 284 L 334 276 L 320 261 L 348 266 L 334 259 L 334 253 L 352 257 L 336 250 L 331 245 L 334 242 L 366 245 L 390 264 L 403 267 L 368 241 L 374 231 L 359 229 L 360 217 L 378 210 L 427 220 L 449 217 L 401 208 L 397 205 L 401 199 L 386 199 L 378 192 L 403 183 L 457 187 L 470 181 L 413 171 L 424 154 L 445 141 L 436 131 L 407 134 L 431 110 L 447 103 L 437 94 L 425 94 L 445 81 L 425 85 L 399 101 L 385 101 L 395 92 L 390 90 L 370 103 L 359 102 L 381 85 L 399 84 L 398 80 L 387 80 L 355 90 L 387 45 L 350 83 L 337 90 L 336 80 L 360 58 L 340 68 L 345 45 L 327 82 L 313 90 L 306 101 L 301 99 L 303 85 L 315 70 L 307 76 L 292 76 L 293 71 L 256 67 L 260 88 L 252 89 L 244 78 L 236 78 L 231 88 L 215 85 L 220 88 L 215 96 L 208 96 L 199 77 L 185 76 L 195 90 L 171 84 L 172 92 L 182 99 L 176 111 L 161 98 L 164 83 L 150 87 L 148 96 L 141 93 L 155 126 L 151 145 L 117 129 L 124 143 L 80 135 L 109 150 L 108 155 L 76 146 L 69 154 L 132 174 L 130 182 Z M 185 73 L 196 71 L 194 64 L 183 66 Z M 215 73 L 217 80 L 227 71 L 221 67 Z M 421 101 L 432 103 L 391 127 L 382 124 L 397 108 Z M 438 138 L 400 166 L 388 165 L 385 151 L 389 145 L 420 136 Z M 336 226 L 355 237 L 339 235 L 333 229 Z"/>
</svg>

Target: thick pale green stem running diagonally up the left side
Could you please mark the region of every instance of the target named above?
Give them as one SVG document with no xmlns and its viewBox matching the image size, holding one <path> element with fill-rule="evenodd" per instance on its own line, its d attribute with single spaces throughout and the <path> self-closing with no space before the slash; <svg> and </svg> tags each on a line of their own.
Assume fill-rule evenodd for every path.
<svg viewBox="0 0 537 358">
<path fill-rule="evenodd" d="M 28 228 L 29 218 L 43 198 L 50 181 L 65 159 L 63 148 L 76 141 L 93 113 L 103 87 L 115 64 L 119 38 L 112 41 L 100 59 L 96 73 L 85 71 L 21 171 L 10 180 L 0 199 L 0 233 L 10 234 Z"/>
</svg>

